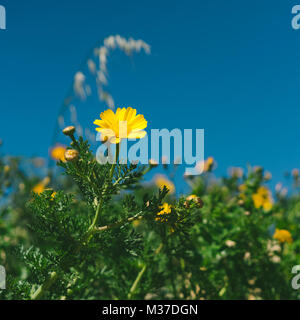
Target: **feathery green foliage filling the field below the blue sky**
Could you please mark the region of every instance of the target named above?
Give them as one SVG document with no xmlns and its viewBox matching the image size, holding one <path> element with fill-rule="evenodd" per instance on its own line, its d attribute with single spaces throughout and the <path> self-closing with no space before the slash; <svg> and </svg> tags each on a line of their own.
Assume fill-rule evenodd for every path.
<svg viewBox="0 0 300 320">
<path fill-rule="evenodd" d="M 0 163 L 2 299 L 299 298 L 290 281 L 300 198 L 278 195 L 271 210 L 255 207 L 262 169 L 191 179 L 202 207 L 145 186 L 151 167 L 100 165 L 82 138 L 70 148 L 78 158 L 60 162 L 65 177 L 51 173 L 52 188 L 40 194 L 18 161 Z M 166 201 L 170 212 L 158 215 Z M 279 244 L 271 226 L 294 242 Z"/>
</svg>

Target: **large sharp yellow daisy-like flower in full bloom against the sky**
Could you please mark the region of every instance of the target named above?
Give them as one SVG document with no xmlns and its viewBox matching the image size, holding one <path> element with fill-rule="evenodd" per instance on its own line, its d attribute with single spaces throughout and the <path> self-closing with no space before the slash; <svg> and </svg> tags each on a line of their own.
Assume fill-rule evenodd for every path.
<svg viewBox="0 0 300 320">
<path fill-rule="evenodd" d="M 118 108 L 116 113 L 108 109 L 100 114 L 101 120 L 95 120 L 104 140 L 119 143 L 121 139 L 141 139 L 146 135 L 147 121 L 142 114 L 136 115 L 136 109 Z"/>
</svg>

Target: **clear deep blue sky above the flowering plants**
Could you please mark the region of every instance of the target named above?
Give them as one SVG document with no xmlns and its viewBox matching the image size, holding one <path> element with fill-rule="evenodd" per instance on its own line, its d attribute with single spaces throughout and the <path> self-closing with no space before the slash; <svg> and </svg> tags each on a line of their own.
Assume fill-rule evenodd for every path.
<svg viewBox="0 0 300 320">
<path fill-rule="evenodd" d="M 300 1 L 0 0 L 0 138 L 6 153 L 47 156 L 59 106 L 87 51 L 111 34 L 150 56 L 114 54 L 110 91 L 152 128 L 204 128 L 205 154 L 262 165 L 275 180 L 300 166 Z M 92 121 L 104 109 L 91 102 Z"/>
</svg>

